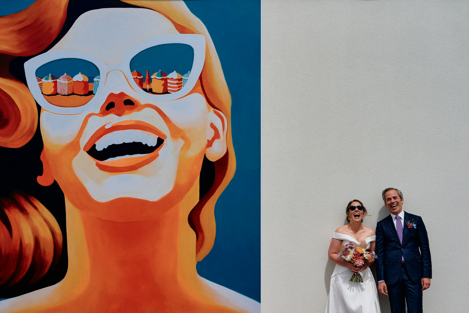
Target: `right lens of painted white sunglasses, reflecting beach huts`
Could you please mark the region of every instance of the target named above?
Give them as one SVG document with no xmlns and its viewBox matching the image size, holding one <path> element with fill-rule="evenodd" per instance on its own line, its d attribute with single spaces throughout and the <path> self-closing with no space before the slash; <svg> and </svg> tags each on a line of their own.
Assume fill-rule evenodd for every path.
<svg viewBox="0 0 469 313">
<path fill-rule="evenodd" d="M 174 93 L 184 88 L 193 63 L 194 49 L 191 46 L 165 44 L 137 53 L 130 60 L 130 70 L 135 83 L 143 91 Z"/>
</svg>

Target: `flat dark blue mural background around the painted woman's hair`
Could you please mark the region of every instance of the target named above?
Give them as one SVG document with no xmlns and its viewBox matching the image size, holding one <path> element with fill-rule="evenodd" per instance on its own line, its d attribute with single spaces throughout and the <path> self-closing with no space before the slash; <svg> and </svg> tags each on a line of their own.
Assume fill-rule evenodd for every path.
<svg viewBox="0 0 469 313">
<path fill-rule="evenodd" d="M 0 15 L 32 2 L 2 0 Z M 185 2 L 217 49 L 232 96 L 236 153 L 236 173 L 215 206 L 215 244 L 197 271 L 260 301 L 260 0 Z"/>
</svg>

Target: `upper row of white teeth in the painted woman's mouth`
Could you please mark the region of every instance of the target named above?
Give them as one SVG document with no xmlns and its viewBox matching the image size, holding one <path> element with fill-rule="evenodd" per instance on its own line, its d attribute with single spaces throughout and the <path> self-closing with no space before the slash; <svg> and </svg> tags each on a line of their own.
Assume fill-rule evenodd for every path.
<svg viewBox="0 0 469 313">
<path fill-rule="evenodd" d="M 141 130 L 117 130 L 101 137 L 96 142 L 96 150 L 102 151 L 110 145 L 130 142 L 141 142 L 144 145 L 154 147 L 158 143 L 158 137 Z"/>
</svg>

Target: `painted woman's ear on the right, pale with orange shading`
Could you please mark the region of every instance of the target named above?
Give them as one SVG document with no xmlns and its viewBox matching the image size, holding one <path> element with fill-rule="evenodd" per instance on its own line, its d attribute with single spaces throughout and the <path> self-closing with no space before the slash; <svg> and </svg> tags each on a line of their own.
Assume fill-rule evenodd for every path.
<svg viewBox="0 0 469 313">
<path fill-rule="evenodd" d="M 207 122 L 207 159 L 218 160 L 227 152 L 227 118 L 219 110 L 213 109 L 209 112 Z"/>
</svg>

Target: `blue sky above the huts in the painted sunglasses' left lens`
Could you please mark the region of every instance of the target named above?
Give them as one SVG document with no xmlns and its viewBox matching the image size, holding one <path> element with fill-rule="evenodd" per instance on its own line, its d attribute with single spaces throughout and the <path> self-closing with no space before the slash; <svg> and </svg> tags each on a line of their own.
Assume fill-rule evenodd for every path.
<svg viewBox="0 0 469 313">
<path fill-rule="evenodd" d="M 59 78 L 63 74 L 67 73 L 68 76 L 75 76 L 78 73 L 82 73 L 84 76 L 88 76 L 90 82 L 93 81 L 95 76 L 99 75 L 99 69 L 91 63 L 83 59 L 59 59 L 50 61 L 41 65 L 36 70 L 36 77 L 44 78 L 49 74 Z"/>
</svg>

